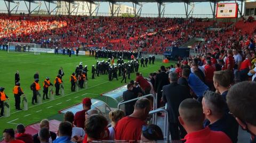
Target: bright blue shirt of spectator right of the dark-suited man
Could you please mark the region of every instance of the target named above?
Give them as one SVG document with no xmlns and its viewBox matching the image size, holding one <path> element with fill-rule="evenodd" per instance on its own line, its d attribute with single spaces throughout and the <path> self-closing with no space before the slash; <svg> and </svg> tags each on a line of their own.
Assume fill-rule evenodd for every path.
<svg viewBox="0 0 256 143">
<path fill-rule="evenodd" d="M 207 87 L 194 73 L 189 74 L 188 85 L 195 92 L 197 97 L 203 97 L 204 92 L 209 90 L 209 87 Z"/>
</svg>

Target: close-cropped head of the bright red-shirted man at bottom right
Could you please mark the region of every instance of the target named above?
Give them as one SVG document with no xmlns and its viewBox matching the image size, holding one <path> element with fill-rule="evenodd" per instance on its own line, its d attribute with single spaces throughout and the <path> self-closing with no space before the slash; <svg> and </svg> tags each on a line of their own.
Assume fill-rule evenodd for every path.
<svg viewBox="0 0 256 143">
<path fill-rule="evenodd" d="M 179 106 L 180 117 L 187 125 L 202 125 L 204 114 L 202 104 L 195 99 L 185 99 Z"/>
</svg>

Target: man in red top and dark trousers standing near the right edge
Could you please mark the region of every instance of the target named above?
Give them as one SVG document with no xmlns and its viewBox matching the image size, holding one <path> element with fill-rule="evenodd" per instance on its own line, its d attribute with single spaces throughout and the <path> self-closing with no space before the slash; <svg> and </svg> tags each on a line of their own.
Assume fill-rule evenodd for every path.
<svg viewBox="0 0 256 143">
<path fill-rule="evenodd" d="M 252 69 L 252 63 L 251 63 L 251 55 L 246 55 L 245 60 L 241 63 L 241 66 L 239 68 L 239 74 L 240 74 L 240 80 L 246 81 L 248 80 L 247 73 Z"/>
</svg>

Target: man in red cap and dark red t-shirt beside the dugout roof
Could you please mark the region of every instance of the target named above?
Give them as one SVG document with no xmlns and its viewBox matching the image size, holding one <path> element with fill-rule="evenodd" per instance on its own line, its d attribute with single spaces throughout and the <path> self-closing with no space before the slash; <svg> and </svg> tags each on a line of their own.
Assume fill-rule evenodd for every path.
<svg viewBox="0 0 256 143">
<path fill-rule="evenodd" d="M 90 98 L 84 98 L 82 101 L 83 109 L 82 111 L 76 112 L 74 117 L 74 125 L 79 128 L 84 129 L 84 122 L 85 122 L 85 112 L 91 109 L 91 99 Z"/>
</svg>

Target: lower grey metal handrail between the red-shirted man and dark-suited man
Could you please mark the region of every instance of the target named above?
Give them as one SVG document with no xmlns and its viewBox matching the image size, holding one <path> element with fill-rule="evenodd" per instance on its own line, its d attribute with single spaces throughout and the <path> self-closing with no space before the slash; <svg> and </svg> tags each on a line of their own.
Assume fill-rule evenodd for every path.
<svg viewBox="0 0 256 143">
<path fill-rule="evenodd" d="M 167 107 L 167 104 L 165 104 L 165 108 Z M 153 111 L 150 111 L 149 112 L 149 115 L 156 115 L 157 113 L 160 113 L 160 112 L 164 112 L 165 115 L 164 115 L 164 139 L 166 140 L 166 142 L 170 142 L 169 138 L 170 138 L 170 130 L 169 130 L 169 119 L 168 119 L 168 112 L 167 110 L 165 110 L 164 108 L 158 108 L 157 110 L 153 110 Z M 156 124 L 157 123 L 157 118 L 155 118 L 155 121 L 154 121 L 154 118 L 153 118 L 153 124 Z"/>
</svg>

